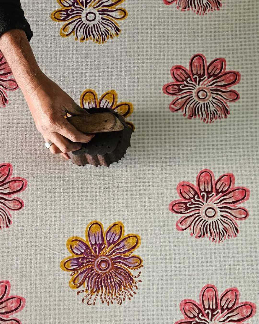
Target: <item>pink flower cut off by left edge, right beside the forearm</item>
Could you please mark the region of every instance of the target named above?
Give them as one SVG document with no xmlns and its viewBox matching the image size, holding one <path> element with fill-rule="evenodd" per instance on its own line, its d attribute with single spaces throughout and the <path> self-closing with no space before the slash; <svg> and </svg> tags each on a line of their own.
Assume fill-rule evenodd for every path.
<svg viewBox="0 0 259 324">
<path fill-rule="evenodd" d="M 0 51 L 0 107 L 8 104 L 7 91 L 14 91 L 18 85 L 14 79 L 10 66 L 7 64 L 3 53 Z"/>
</svg>

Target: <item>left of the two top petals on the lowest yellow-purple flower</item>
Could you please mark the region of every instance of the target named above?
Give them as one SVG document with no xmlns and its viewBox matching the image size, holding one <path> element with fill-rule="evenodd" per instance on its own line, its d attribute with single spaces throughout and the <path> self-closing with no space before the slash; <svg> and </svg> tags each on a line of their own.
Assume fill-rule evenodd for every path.
<svg viewBox="0 0 259 324">
<path fill-rule="evenodd" d="M 97 255 L 99 255 L 105 247 L 103 232 L 102 224 L 96 221 L 90 223 L 86 229 L 89 244 Z"/>
</svg>

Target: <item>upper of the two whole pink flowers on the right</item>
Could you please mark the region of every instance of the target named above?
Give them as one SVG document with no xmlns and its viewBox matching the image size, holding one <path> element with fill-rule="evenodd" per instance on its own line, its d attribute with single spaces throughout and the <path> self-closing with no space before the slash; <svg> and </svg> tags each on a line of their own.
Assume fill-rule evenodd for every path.
<svg viewBox="0 0 259 324">
<path fill-rule="evenodd" d="M 171 69 L 174 82 L 164 85 L 166 95 L 175 96 L 169 109 L 172 112 L 182 110 L 184 116 L 211 123 L 217 119 L 227 118 L 230 114 L 227 102 L 239 99 L 239 93 L 229 90 L 240 81 L 236 71 L 226 71 L 226 60 L 217 58 L 207 65 L 206 57 L 194 55 L 189 70 L 182 65 Z"/>
</svg>

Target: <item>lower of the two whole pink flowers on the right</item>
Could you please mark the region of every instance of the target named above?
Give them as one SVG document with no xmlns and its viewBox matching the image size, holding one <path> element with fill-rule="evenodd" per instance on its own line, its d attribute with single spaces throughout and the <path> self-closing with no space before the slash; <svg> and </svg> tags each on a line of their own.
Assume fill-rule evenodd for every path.
<svg viewBox="0 0 259 324">
<path fill-rule="evenodd" d="M 170 203 L 172 213 L 183 215 L 176 223 L 178 231 L 189 228 L 191 236 L 208 237 L 212 242 L 222 242 L 239 233 L 236 220 L 248 217 L 248 211 L 237 207 L 249 199 L 250 190 L 235 187 L 235 177 L 226 173 L 215 181 L 208 169 L 199 172 L 196 186 L 182 181 L 176 188 L 181 199 Z"/>
</svg>

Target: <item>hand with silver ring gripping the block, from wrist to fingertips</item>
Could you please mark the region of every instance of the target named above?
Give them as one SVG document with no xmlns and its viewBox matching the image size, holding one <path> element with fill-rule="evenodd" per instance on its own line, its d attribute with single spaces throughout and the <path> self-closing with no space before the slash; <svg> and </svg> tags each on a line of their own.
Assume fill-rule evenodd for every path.
<svg viewBox="0 0 259 324">
<path fill-rule="evenodd" d="M 38 131 L 45 142 L 54 143 L 50 147 L 51 153 L 62 153 L 70 159 L 67 152 L 80 149 L 81 143 L 87 143 L 94 137 L 78 131 L 64 118 L 67 113 L 74 116 L 86 112 L 46 75 L 38 74 L 37 80 L 34 78 L 26 89 L 24 96 Z"/>
</svg>

